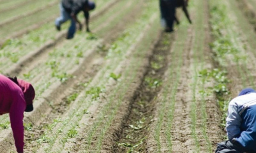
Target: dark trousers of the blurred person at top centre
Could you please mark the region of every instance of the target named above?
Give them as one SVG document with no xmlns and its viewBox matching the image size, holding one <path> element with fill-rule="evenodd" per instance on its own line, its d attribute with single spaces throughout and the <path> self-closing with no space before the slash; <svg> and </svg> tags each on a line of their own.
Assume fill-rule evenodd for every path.
<svg viewBox="0 0 256 153">
<path fill-rule="evenodd" d="M 161 18 L 166 22 L 166 26 L 172 29 L 175 20 L 176 0 L 160 0 Z"/>
</svg>

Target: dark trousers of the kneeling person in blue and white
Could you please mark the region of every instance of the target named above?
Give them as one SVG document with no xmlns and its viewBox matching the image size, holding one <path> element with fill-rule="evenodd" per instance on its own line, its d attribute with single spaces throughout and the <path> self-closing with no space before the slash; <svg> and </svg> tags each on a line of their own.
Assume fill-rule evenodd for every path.
<svg viewBox="0 0 256 153">
<path fill-rule="evenodd" d="M 215 153 L 253 153 L 252 150 L 244 148 L 239 142 L 224 141 L 217 144 Z"/>
</svg>

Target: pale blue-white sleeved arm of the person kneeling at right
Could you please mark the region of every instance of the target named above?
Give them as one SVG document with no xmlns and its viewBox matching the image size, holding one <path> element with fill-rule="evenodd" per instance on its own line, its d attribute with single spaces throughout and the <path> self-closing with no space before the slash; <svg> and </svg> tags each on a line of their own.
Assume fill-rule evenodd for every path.
<svg viewBox="0 0 256 153">
<path fill-rule="evenodd" d="M 231 102 L 230 102 L 231 103 Z M 240 126 L 242 118 L 238 112 L 238 106 L 236 104 L 229 104 L 228 106 L 228 116 L 226 119 L 226 130 L 228 139 L 233 139 L 240 135 Z"/>
</svg>

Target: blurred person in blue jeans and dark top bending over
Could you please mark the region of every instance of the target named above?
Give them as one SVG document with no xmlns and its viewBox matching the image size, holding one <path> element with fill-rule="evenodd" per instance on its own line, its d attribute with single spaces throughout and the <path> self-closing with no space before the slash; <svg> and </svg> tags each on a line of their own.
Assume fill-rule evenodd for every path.
<svg viewBox="0 0 256 153">
<path fill-rule="evenodd" d="M 82 24 L 77 18 L 80 11 L 84 12 L 86 31 L 89 29 L 89 11 L 95 8 L 95 3 L 89 0 L 62 0 L 60 3 L 60 17 L 55 20 L 55 26 L 60 31 L 60 26 L 67 20 L 71 20 L 71 25 L 68 29 L 67 39 L 74 37 L 76 32 L 76 23 L 79 25 L 79 30 L 82 30 Z"/>
</svg>

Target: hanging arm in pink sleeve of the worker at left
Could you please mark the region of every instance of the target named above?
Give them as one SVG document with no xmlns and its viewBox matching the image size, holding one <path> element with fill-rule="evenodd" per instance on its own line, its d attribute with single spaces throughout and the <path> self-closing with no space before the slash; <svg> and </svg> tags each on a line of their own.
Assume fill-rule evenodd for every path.
<svg viewBox="0 0 256 153">
<path fill-rule="evenodd" d="M 10 108 L 10 121 L 12 133 L 15 141 L 15 146 L 18 153 L 23 153 L 24 146 L 24 127 L 23 127 L 23 113 L 26 108 L 24 95 L 22 92 L 17 92 L 13 95 L 13 102 Z"/>
</svg>

